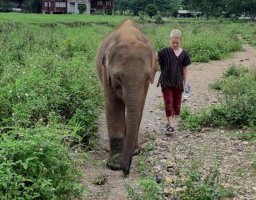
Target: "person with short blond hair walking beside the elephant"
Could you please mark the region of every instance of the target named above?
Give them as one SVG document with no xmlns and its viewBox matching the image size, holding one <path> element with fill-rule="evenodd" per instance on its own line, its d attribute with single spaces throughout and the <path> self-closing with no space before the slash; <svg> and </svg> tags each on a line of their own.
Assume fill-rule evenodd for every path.
<svg viewBox="0 0 256 200">
<path fill-rule="evenodd" d="M 182 32 L 170 32 L 170 47 L 158 51 L 158 62 L 161 74 L 158 86 L 161 85 L 167 118 L 167 134 L 174 132 L 174 115 L 179 115 L 182 103 L 182 92 L 187 86 L 187 66 L 191 64 L 190 56 L 180 47 Z"/>
</svg>

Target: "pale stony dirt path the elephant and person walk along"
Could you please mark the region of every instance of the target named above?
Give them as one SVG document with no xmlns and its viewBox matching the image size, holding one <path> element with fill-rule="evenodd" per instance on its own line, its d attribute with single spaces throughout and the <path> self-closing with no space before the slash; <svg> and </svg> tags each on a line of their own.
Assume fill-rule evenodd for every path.
<svg viewBox="0 0 256 200">
<path fill-rule="evenodd" d="M 237 66 L 256 66 L 256 49 L 252 46 L 244 46 L 244 52 L 236 52 L 231 58 L 221 61 L 213 61 L 209 63 L 199 63 L 190 66 L 189 79 L 191 83 L 190 98 L 186 102 L 190 108 L 198 108 L 217 102 L 216 94 L 209 89 L 208 84 L 214 82 L 222 76 L 222 72 L 231 65 Z M 162 159 L 168 154 L 170 162 L 174 163 L 174 158 L 186 159 L 188 155 L 194 154 L 194 158 L 203 159 L 206 165 L 210 165 L 214 160 L 214 156 L 222 156 L 222 172 L 245 169 L 244 178 L 235 178 L 238 182 L 234 186 L 241 194 L 234 199 L 255 199 L 256 197 L 256 178 L 252 176 L 246 167 L 251 166 L 250 159 L 247 158 L 253 152 L 253 144 L 249 142 L 239 142 L 230 138 L 225 130 L 210 130 L 206 133 L 188 133 L 177 132 L 173 138 L 166 138 L 161 133 L 162 126 L 166 123 L 163 110 L 158 108 L 162 102 L 162 94 L 160 88 L 156 87 L 159 73 L 156 75 L 153 86 L 150 86 L 149 93 L 146 98 L 146 106 L 143 113 L 142 124 L 139 134 L 139 141 L 143 143 L 147 140 L 147 135 L 154 133 L 158 138 L 155 142 L 157 150 L 150 152 L 150 156 L 156 158 L 161 170 L 166 172 L 166 166 L 162 163 Z M 99 118 L 99 150 L 91 156 L 91 162 L 83 166 L 84 174 L 82 181 L 86 188 L 90 190 L 90 196 L 83 199 L 127 199 L 125 190 L 126 183 L 139 177 L 137 166 L 138 158 L 134 157 L 131 166 L 130 177 L 122 178 L 121 171 L 112 171 L 106 168 L 106 158 L 108 157 L 108 138 L 106 133 L 106 118 L 102 114 Z M 200 152 L 206 152 L 200 154 Z M 239 165 L 238 165 L 239 164 Z M 238 167 L 239 166 L 239 167 Z M 239 169 L 238 169 L 239 168 Z M 102 174 L 107 177 L 104 186 L 94 185 L 94 180 L 98 175 Z M 169 174 L 170 175 L 170 174 Z"/>
</svg>

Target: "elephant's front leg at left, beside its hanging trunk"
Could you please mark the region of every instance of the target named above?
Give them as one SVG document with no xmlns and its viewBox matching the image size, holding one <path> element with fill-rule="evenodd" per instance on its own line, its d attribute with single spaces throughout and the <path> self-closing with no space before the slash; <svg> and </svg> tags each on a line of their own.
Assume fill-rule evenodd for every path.
<svg viewBox="0 0 256 200">
<path fill-rule="evenodd" d="M 111 170 L 122 170 L 122 153 L 126 130 L 125 105 L 114 90 L 109 90 L 106 98 L 106 122 L 110 142 L 110 158 L 107 166 Z"/>
</svg>

